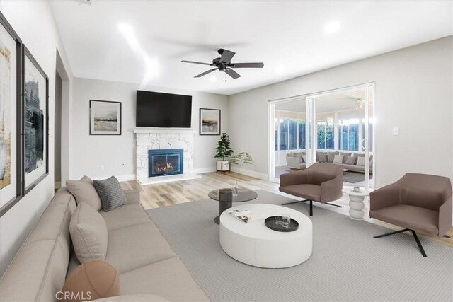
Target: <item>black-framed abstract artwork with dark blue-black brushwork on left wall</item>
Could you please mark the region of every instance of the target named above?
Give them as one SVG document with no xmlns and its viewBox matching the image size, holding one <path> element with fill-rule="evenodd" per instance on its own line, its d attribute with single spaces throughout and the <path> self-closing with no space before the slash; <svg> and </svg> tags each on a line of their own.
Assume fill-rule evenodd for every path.
<svg viewBox="0 0 453 302">
<path fill-rule="evenodd" d="M 23 46 L 23 193 L 49 174 L 49 78 Z"/>
</svg>

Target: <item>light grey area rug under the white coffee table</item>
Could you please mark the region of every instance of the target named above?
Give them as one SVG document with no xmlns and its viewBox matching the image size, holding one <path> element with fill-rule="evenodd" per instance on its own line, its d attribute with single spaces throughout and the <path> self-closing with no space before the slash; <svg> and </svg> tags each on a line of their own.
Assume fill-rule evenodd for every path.
<svg viewBox="0 0 453 302">
<path fill-rule="evenodd" d="M 254 203 L 292 201 L 257 192 Z M 286 207 L 308 216 L 305 203 Z M 211 199 L 148 210 L 212 301 L 453 301 L 453 248 L 420 238 L 425 258 L 405 233 L 374 239 L 391 230 L 314 207 L 309 260 L 263 269 L 225 254 L 218 210 Z"/>
</svg>

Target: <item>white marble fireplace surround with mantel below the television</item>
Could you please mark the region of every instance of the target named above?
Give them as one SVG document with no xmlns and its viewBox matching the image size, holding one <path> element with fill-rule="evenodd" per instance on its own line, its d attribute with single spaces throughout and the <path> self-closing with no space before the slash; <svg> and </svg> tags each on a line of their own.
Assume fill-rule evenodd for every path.
<svg viewBox="0 0 453 302">
<path fill-rule="evenodd" d="M 193 173 L 193 147 L 195 134 L 193 129 L 135 129 L 137 181 L 141 185 L 159 182 L 177 181 L 200 178 Z M 151 149 L 183 149 L 184 174 L 148 177 L 148 150 Z"/>
</svg>

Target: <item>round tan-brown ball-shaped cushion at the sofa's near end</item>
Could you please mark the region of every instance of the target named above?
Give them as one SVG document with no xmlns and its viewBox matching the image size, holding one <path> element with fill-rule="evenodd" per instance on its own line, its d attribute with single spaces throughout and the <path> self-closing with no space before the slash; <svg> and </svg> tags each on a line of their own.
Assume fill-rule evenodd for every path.
<svg viewBox="0 0 453 302">
<path fill-rule="evenodd" d="M 66 279 L 62 293 L 78 293 L 84 300 L 118 296 L 120 278 L 115 267 L 103 260 L 90 260 L 77 267 Z M 70 296 L 62 301 L 74 301 Z M 57 297 L 59 298 L 59 297 Z"/>
</svg>

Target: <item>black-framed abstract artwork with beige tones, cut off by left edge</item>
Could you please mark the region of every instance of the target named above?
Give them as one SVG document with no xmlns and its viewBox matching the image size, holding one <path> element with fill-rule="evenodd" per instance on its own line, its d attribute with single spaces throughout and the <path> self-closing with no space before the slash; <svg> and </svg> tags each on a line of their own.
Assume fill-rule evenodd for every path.
<svg viewBox="0 0 453 302">
<path fill-rule="evenodd" d="M 0 216 L 22 195 L 21 47 L 21 39 L 0 13 Z"/>
</svg>

